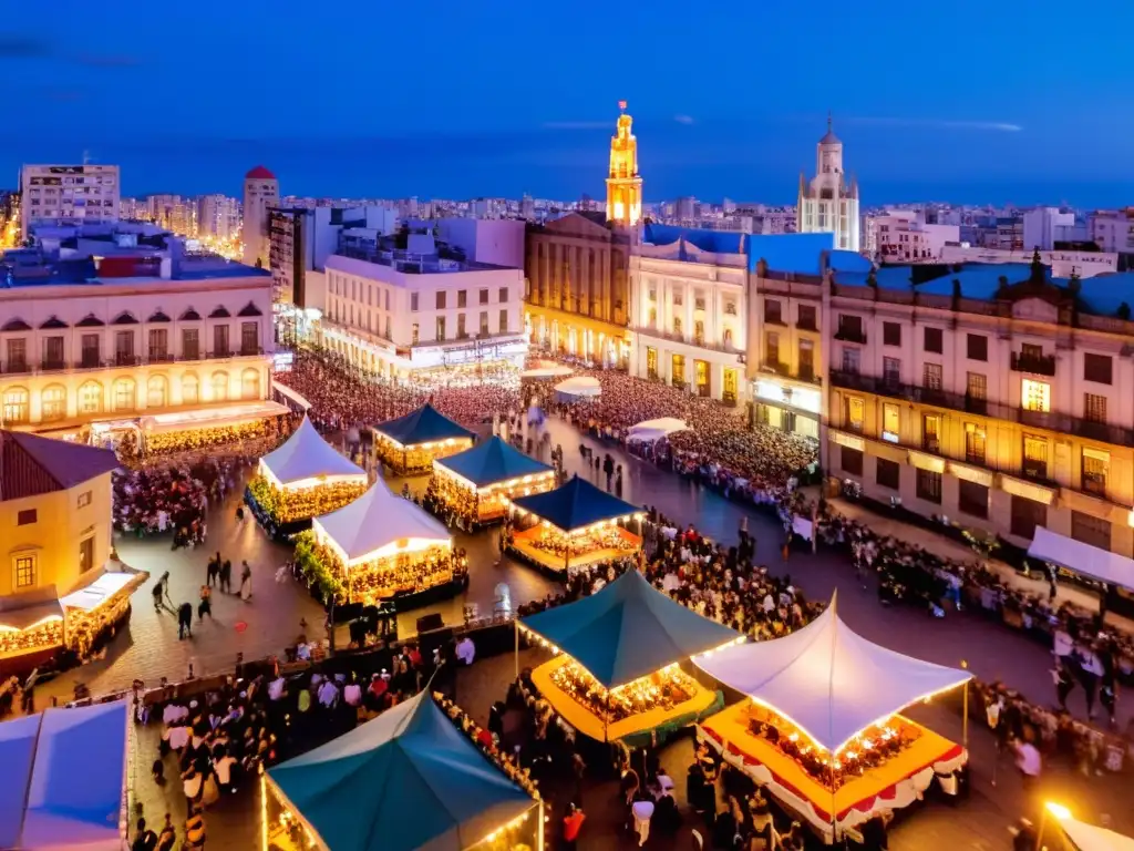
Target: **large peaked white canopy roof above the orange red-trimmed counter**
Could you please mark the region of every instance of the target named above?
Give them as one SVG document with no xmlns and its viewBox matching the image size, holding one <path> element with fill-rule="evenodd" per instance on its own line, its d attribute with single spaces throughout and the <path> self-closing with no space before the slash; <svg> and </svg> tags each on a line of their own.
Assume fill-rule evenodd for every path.
<svg viewBox="0 0 1134 851">
<path fill-rule="evenodd" d="M 693 662 L 831 752 L 870 725 L 972 677 L 868 641 L 843 623 L 835 599 L 802 630 L 694 656 Z"/>
</svg>

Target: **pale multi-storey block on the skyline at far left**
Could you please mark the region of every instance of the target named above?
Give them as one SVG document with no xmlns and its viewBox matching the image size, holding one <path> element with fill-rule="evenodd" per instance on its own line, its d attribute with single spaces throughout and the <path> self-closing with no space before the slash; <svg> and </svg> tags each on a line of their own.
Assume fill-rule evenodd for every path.
<svg viewBox="0 0 1134 851">
<path fill-rule="evenodd" d="M 105 225 L 118 221 L 118 166 L 24 166 L 20 236 L 37 225 Z"/>
</svg>

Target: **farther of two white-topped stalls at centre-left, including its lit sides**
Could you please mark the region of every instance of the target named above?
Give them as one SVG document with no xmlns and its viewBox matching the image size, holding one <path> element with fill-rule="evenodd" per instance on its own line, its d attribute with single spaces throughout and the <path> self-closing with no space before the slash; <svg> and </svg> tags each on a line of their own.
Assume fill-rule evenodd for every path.
<svg viewBox="0 0 1134 851">
<path fill-rule="evenodd" d="M 260 460 L 245 500 L 273 533 L 287 534 L 362 496 L 367 483 L 365 471 L 323 440 L 305 416 L 282 446 Z"/>
</svg>

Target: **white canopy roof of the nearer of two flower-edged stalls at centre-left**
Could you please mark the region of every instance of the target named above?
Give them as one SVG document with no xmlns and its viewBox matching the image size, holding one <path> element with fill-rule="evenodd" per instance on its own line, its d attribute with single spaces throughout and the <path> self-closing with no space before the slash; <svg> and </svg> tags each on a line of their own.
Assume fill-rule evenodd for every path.
<svg viewBox="0 0 1134 851">
<path fill-rule="evenodd" d="M 312 521 L 315 538 L 353 567 L 399 553 L 452 546 L 452 536 L 416 503 L 378 479 L 361 497 Z"/>
</svg>

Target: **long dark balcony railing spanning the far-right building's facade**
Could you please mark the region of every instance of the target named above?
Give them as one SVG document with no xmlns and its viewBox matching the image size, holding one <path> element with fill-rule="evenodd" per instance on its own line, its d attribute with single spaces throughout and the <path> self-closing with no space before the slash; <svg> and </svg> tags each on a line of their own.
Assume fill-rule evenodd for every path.
<svg viewBox="0 0 1134 851">
<path fill-rule="evenodd" d="M 848 390 L 872 393 L 878 396 L 933 405 L 934 407 L 960 411 L 976 416 L 990 416 L 995 420 L 1005 420 L 1034 429 L 1047 429 L 1048 431 L 1074 435 L 1075 437 L 1098 440 L 1103 444 L 1114 444 L 1116 446 L 1134 445 L 1134 429 L 1125 426 L 1110 426 L 1105 422 L 1085 420 L 1082 416 L 1072 416 L 1070 414 L 1055 411 L 1030 411 L 1000 402 L 989 402 L 988 399 L 976 398 L 966 394 L 932 390 L 898 381 L 886 381 L 873 376 L 860 376 L 844 370 L 831 370 L 830 381 L 833 387 L 843 387 Z"/>
</svg>

